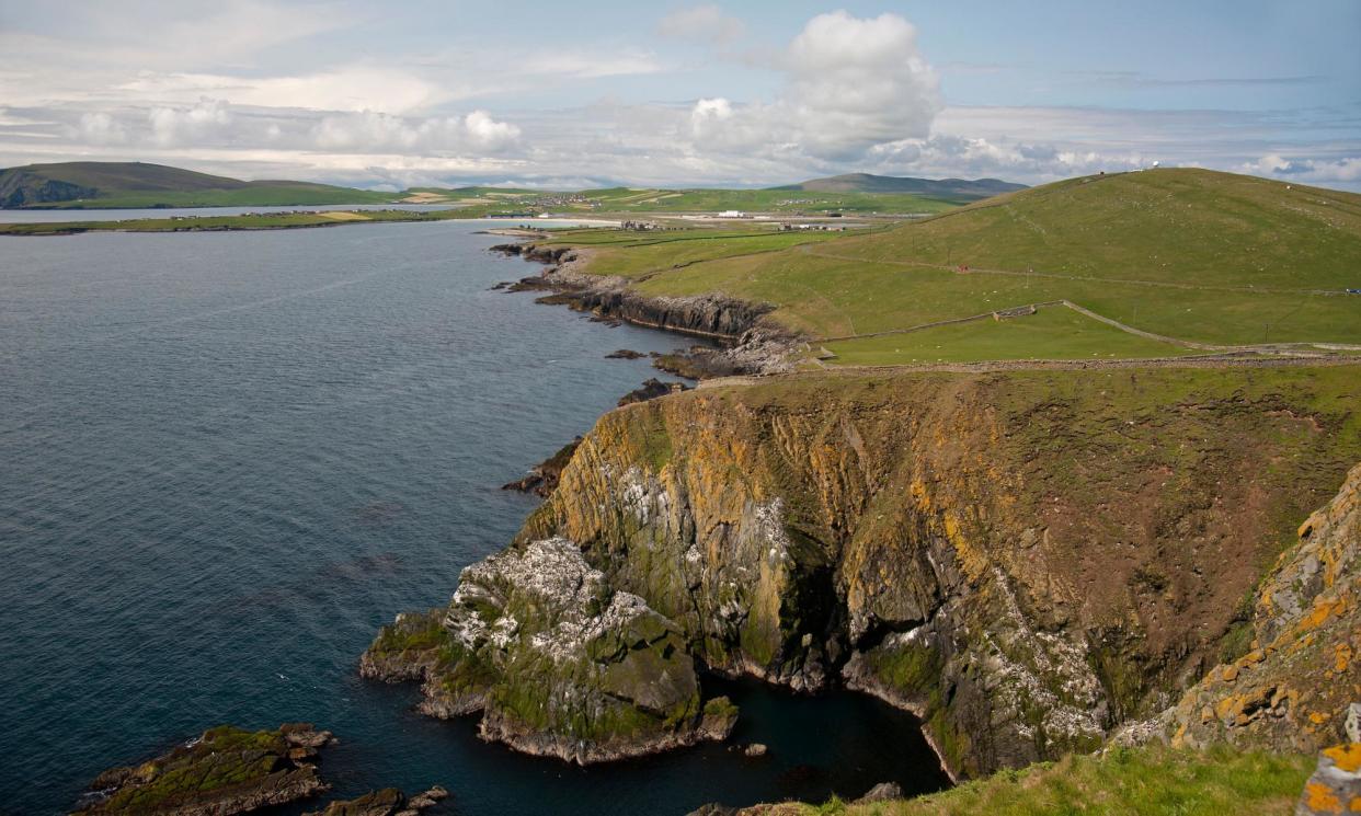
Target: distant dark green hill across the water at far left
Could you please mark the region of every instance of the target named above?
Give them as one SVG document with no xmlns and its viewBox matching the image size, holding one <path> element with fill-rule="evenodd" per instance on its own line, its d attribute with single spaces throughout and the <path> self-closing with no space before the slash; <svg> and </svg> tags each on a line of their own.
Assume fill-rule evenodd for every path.
<svg viewBox="0 0 1361 816">
<path fill-rule="evenodd" d="M 241 181 L 143 162 L 61 162 L 0 170 L 0 208 L 289 207 L 392 197 L 305 181 Z"/>
</svg>

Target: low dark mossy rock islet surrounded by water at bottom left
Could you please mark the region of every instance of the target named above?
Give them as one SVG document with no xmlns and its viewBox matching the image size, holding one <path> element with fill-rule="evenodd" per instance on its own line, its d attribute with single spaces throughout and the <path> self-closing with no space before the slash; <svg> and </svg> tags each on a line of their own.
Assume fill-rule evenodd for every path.
<svg viewBox="0 0 1361 816">
<path fill-rule="evenodd" d="M 328 790 L 317 749 L 331 732 L 309 724 L 248 732 L 229 725 L 140 766 L 99 774 L 78 813 L 230 816 L 304 800 Z"/>
</svg>

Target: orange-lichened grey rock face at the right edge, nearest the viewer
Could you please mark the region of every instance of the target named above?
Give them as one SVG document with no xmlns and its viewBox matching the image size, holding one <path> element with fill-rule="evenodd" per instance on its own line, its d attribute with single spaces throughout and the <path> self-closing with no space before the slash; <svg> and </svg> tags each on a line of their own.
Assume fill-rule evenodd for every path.
<svg viewBox="0 0 1361 816">
<path fill-rule="evenodd" d="M 1228 741 L 1315 752 L 1345 741 L 1361 699 L 1361 465 L 1262 582 L 1247 654 L 1166 714 L 1173 745 Z"/>
</svg>

